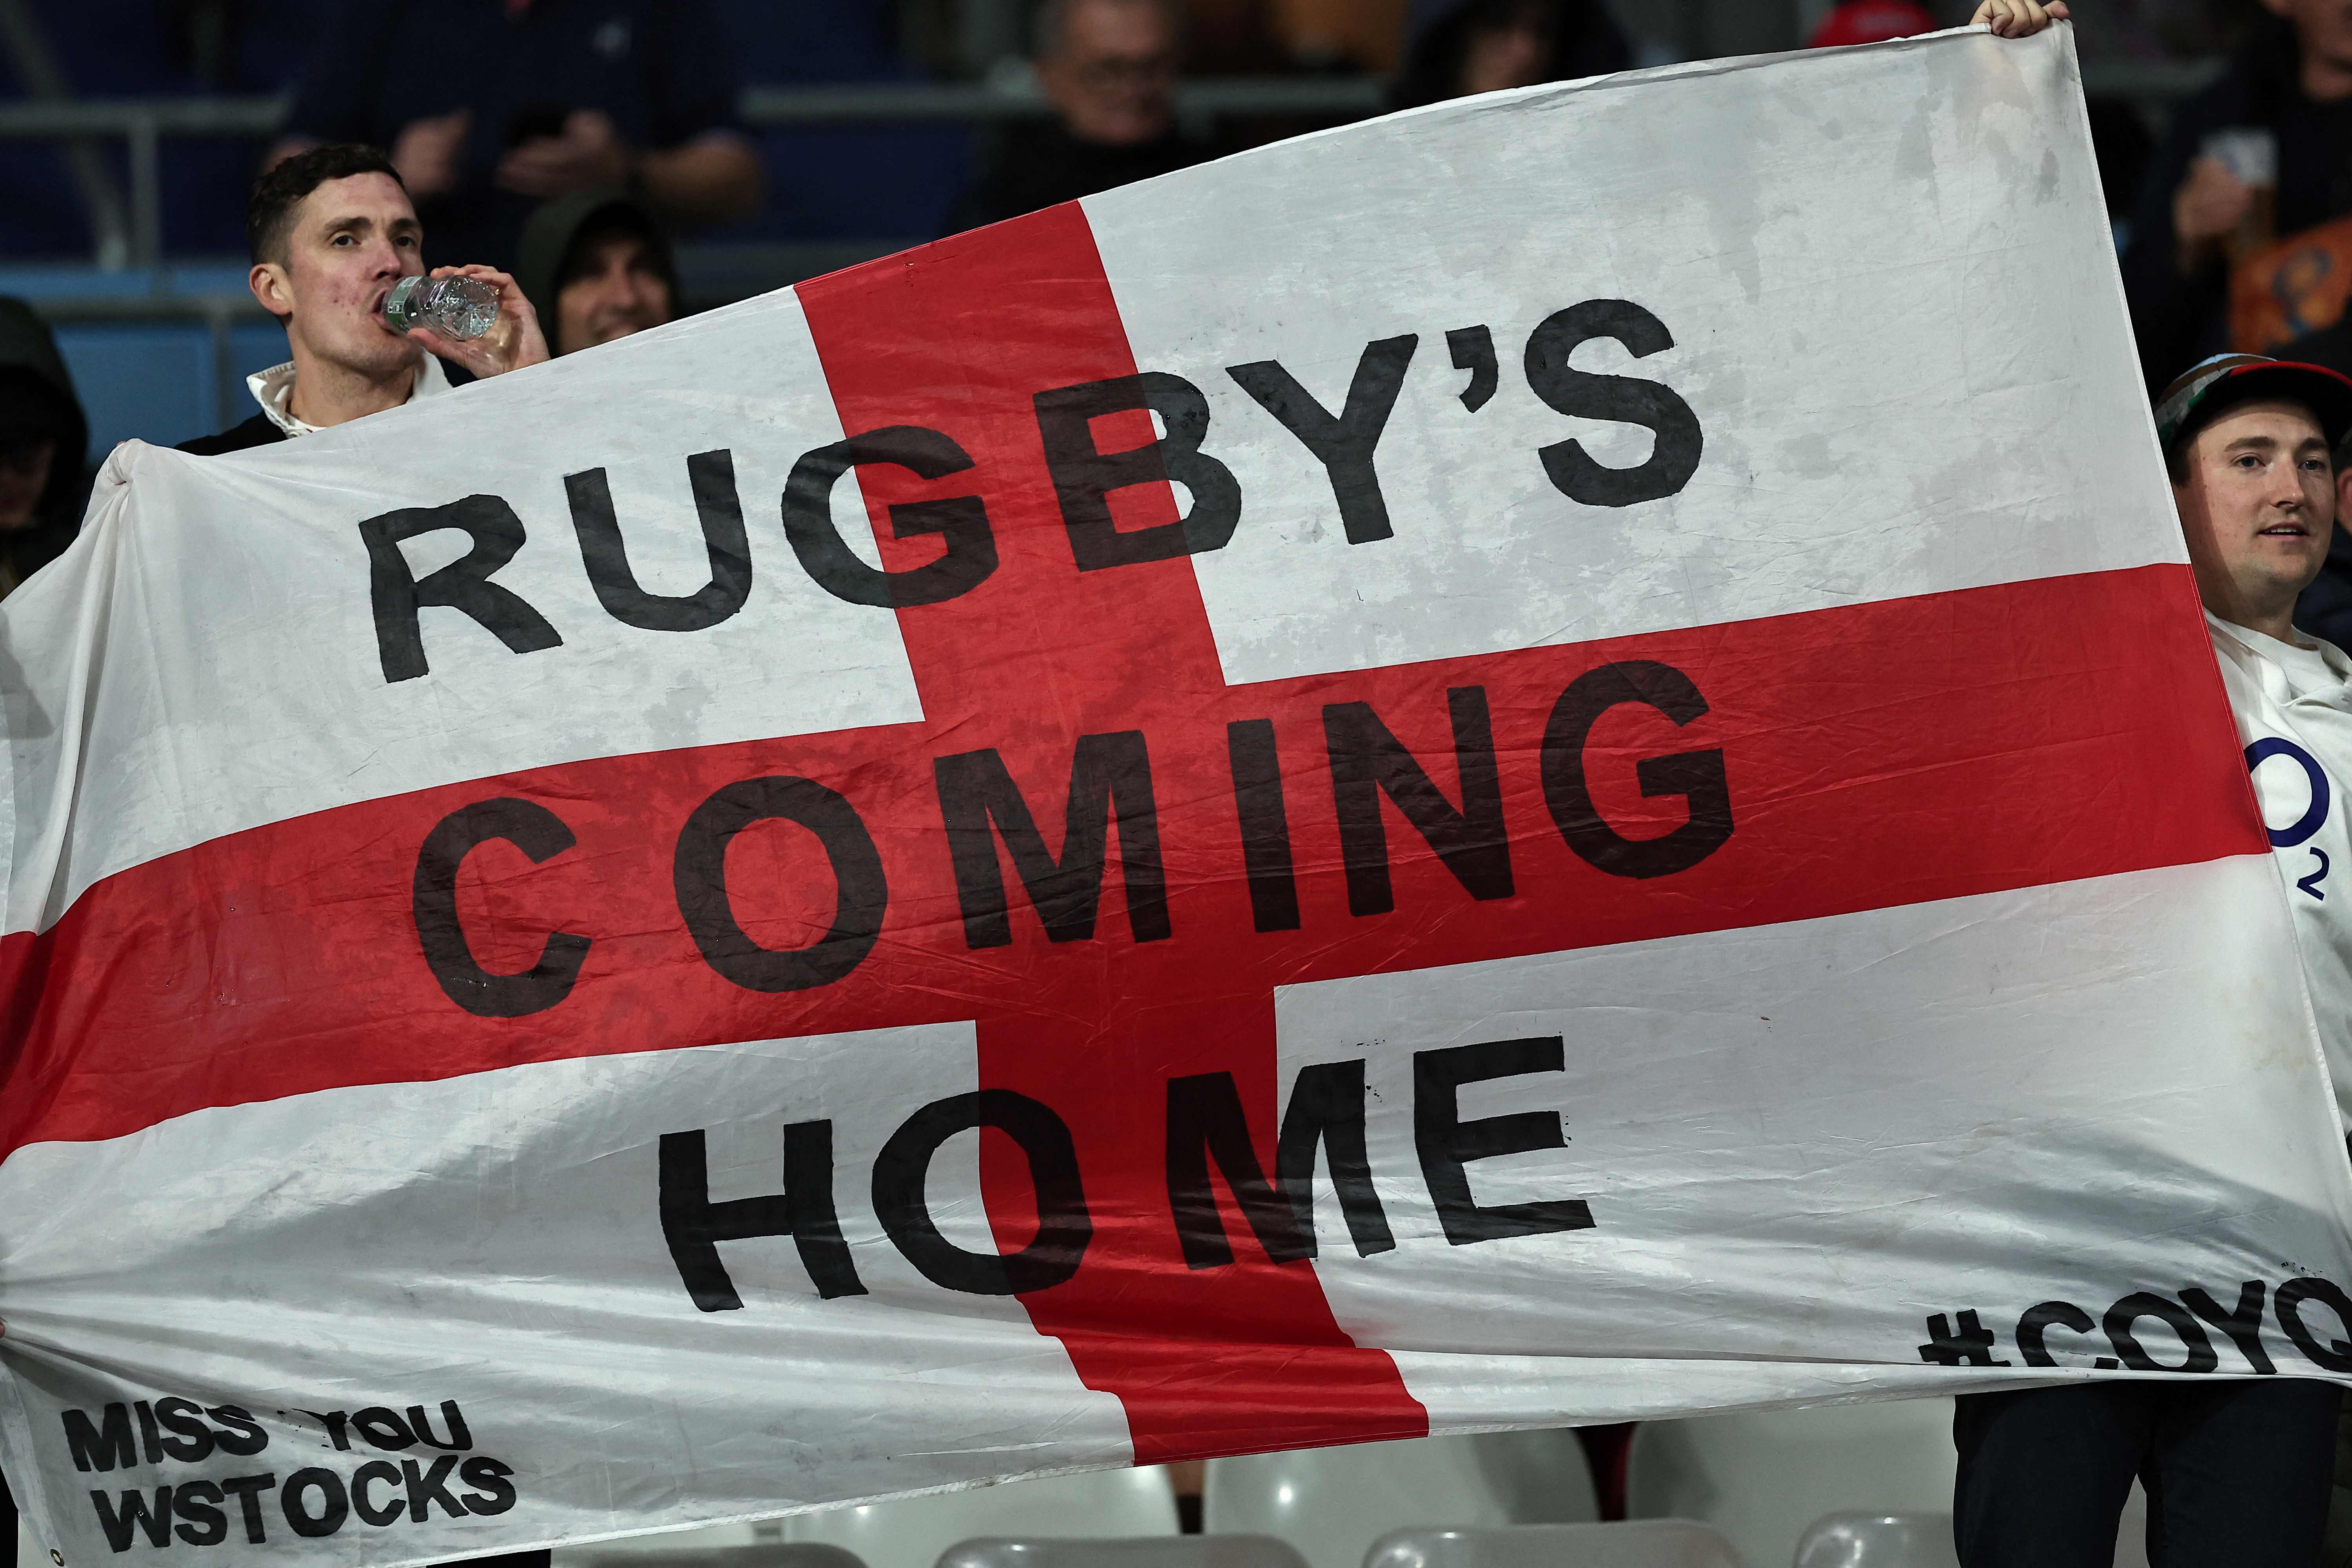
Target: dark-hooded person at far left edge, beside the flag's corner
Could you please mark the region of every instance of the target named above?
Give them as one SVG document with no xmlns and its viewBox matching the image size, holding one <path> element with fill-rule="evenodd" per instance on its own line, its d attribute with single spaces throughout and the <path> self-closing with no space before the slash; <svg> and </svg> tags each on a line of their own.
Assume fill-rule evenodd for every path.
<svg viewBox="0 0 2352 1568">
<path fill-rule="evenodd" d="M 73 543 L 89 501 L 87 447 L 56 339 L 21 299 L 0 299 L 0 597 Z"/>
</svg>

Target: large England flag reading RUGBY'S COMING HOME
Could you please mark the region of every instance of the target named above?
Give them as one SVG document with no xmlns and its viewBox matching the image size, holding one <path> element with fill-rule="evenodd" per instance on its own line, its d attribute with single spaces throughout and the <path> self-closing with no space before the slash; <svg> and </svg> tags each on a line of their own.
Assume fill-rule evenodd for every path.
<svg viewBox="0 0 2352 1568">
<path fill-rule="evenodd" d="M 0 686 L 68 1568 L 2352 1373 L 2065 28 L 125 447 Z"/>
</svg>

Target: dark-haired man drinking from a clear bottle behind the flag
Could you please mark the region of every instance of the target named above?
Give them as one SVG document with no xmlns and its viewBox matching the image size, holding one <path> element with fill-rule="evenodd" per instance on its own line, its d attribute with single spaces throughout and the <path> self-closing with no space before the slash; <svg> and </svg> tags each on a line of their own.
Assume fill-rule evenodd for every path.
<svg viewBox="0 0 2352 1568">
<path fill-rule="evenodd" d="M 499 289 L 499 320 L 485 336 L 386 327 L 383 296 L 426 263 L 416 209 L 376 148 L 310 148 L 261 174 L 245 205 L 245 244 L 247 287 L 285 324 L 292 360 L 247 376 L 259 414 L 181 451 L 242 451 L 447 393 L 442 360 L 496 376 L 548 357 L 532 301 L 487 266 L 433 270 Z"/>
</svg>

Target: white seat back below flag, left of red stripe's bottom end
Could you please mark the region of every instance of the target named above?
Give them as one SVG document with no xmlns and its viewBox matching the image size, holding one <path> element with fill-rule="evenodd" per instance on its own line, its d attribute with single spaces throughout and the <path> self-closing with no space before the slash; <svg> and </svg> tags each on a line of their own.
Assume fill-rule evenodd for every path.
<svg viewBox="0 0 2352 1568">
<path fill-rule="evenodd" d="M 873 1568 L 931 1568 L 948 1547 L 983 1535 L 1023 1542 L 1176 1535 L 1176 1493 L 1157 1467 L 1096 1469 L 795 1514 L 783 1535 L 847 1547 Z"/>
</svg>

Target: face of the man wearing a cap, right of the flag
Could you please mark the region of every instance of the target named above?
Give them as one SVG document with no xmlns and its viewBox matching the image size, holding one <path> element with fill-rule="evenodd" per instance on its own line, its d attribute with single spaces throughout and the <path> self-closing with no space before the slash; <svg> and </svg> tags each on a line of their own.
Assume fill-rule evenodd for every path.
<svg viewBox="0 0 2352 1568">
<path fill-rule="evenodd" d="M 2190 442 L 2173 505 L 2209 609 L 2291 604 L 2319 576 L 2336 527 L 2319 421 L 2300 402 L 2230 409 Z"/>
</svg>

